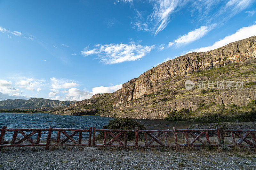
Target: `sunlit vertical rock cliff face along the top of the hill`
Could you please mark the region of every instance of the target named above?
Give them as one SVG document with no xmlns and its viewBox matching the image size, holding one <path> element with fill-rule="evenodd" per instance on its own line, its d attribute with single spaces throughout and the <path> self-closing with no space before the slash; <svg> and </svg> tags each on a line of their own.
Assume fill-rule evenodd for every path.
<svg viewBox="0 0 256 170">
<path fill-rule="evenodd" d="M 186 76 L 193 71 L 219 68 L 230 63 L 253 63 L 256 59 L 256 36 L 232 42 L 224 47 L 208 52 L 189 53 L 162 63 L 139 78 L 134 78 L 122 85 L 111 96 L 113 107 L 136 100 L 145 94 L 163 89 L 158 83 L 177 76 Z"/>
</svg>

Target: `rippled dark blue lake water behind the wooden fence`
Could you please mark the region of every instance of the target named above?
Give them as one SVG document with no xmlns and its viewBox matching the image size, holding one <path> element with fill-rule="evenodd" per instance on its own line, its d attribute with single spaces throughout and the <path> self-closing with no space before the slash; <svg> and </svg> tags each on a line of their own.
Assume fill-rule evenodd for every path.
<svg viewBox="0 0 256 170">
<path fill-rule="evenodd" d="M 55 114 L 35 114 L 35 113 L 0 113 L 0 128 L 74 128 L 74 129 L 89 129 L 96 127 L 101 129 L 108 121 L 114 119 L 110 117 L 100 116 L 65 116 Z M 141 120 L 135 121 L 144 124 L 147 129 L 186 129 L 189 125 L 195 122 L 171 122 L 165 120 Z M 47 131 L 42 131 L 42 138 L 47 136 Z M 5 140 L 12 139 L 13 132 L 5 133 Z M 20 133 L 18 133 L 19 137 Z M 56 137 L 57 132 L 52 133 L 52 137 Z M 20 135 L 21 137 L 21 135 Z M 83 137 L 88 137 L 88 133 L 83 133 Z M 36 134 L 31 138 L 36 138 Z M 76 137 L 74 137 L 76 138 Z"/>
</svg>

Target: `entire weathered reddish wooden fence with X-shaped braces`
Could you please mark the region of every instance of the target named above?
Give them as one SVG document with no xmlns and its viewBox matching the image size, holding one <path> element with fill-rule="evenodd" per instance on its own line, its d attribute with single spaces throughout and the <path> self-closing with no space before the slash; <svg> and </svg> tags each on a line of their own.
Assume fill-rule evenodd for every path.
<svg viewBox="0 0 256 170">
<path fill-rule="evenodd" d="M 4 135 L 5 132 L 12 131 L 13 137 L 11 144 L 4 144 Z M 29 134 L 26 134 L 24 131 L 32 131 Z M 42 131 L 48 131 L 48 135 L 46 141 L 44 143 L 40 143 L 41 133 Z M 71 131 L 72 133 L 69 135 L 67 131 Z M 57 139 L 56 143 L 53 143 L 51 139 L 52 132 L 57 132 Z M 83 140 L 87 143 L 82 143 L 82 133 L 89 132 L 88 140 Z M 103 143 L 96 144 L 96 132 L 101 132 L 104 134 L 103 136 Z M 17 134 L 20 133 L 24 137 L 18 141 L 16 141 Z M 30 137 L 37 133 L 37 139 L 34 141 Z M 65 135 L 65 139 L 60 141 L 60 134 Z M 76 141 L 73 136 L 78 133 L 78 141 Z M 92 136 L 93 133 L 93 136 Z M 130 142 L 131 144 L 127 144 L 127 133 L 134 133 L 135 139 L 134 142 Z M 177 133 L 181 135 L 177 135 Z M 211 137 L 215 137 L 218 142 L 212 142 L 209 138 L 209 133 Z M 216 129 L 166 129 L 166 130 L 138 130 L 129 129 L 129 130 L 122 130 L 122 129 L 96 129 L 95 127 L 90 127 L 89 129 L 63 129 L 63 128 L 52 128 L 49 129 L 7 129 L 4 126 L 1 129 L 0 135 L 0 148 L 3 147 L 15 147 L 15 146 L 45 146 L 45 149 L 49 149 L 49 146 L 122 146 L 122 147 L 168 147 L 168 146 L 181 146 L 181 147 L 188 147 L 188 146 L 196 146 L 196 147 L 204 147 L 204 146 L 227 146 L 227 147 L 256 147 L 256 137 L 255 137 L 256 130 L 224 130 L 221 128 Z M 162 135 L 163 134 L 163 135 Z M 111 138 L 108 139 L 110 135 Z M 123 141 L 119 139 L 123 135 Z M 140 137 L 139 137 L 140 135 Z M 144 138 L 143 138 L 144 135 Z M 189 138 L 188 135 L 191 137 Z M 142 141 L 139 144 L 139 138 L 142 136 Z M 162 138 L 160 138 L 162 136 Z M 167 137 L 172 137 L 173 143 L 170 143 Z M 184 141 L 178 139 L 178 137 L 183 137 Z M 205 137 L 205 140 L 204 140 Z M 92 138 L 92 145 L 91 145 L 91 138 Z M 226 138 L 226 139 L 225 139 Z M 228 144 L 225 142 L 227 138 L 231 138 L 232 144 Z M 107 141 L 108 139 L 108 141 Z M 237 141 L 236 141 L 237 139 Z M 21 144 L 25 140 L 28 140 L 29 144 Z M 68 140 L 72 141 L 72 144 L 65 144 Z M 162 142 L 163 140 L 163 142 Z M 242 144 L 242 142 L 244 143 Z M 116 142 L 116 144 L 114 144 Z M 156 144 L 153 144 L 155 142 Z M 196 142 L 199 142 L 199 144 Z"/>
</svg>

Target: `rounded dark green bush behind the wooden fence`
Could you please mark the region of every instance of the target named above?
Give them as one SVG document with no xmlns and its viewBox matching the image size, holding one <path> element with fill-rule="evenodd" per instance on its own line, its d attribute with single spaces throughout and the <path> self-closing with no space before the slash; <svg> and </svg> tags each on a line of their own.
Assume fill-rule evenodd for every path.
<svg viewBox="0 0 256 170">
<path fill-rule="evenodd" d="M 145 130 L 145 126 L 143 124 L 140 124 L 138 122 L 135 122 L 134 120 L 130 118 L 115 118 L 113 120 L 109 120 L 107 125 L 103 126 L 103 129 L 135 129 L 138 128 L 138 130 Z M 114 135 L 117 135 L 118 132 L 114 132 Z M 100 132 L 100 134 L 97 136 L 97 140 L 103 140 L 104 132 Z M 107 138 L 112 138 L 110 135 L 107 135 Z M 119 139 L 123 139 L 124 135 L 122 134 Z M 134 132 L 128 132 L 127 133 L 127 140 L 134 140 L 135 134 Z"/>
</svg>

